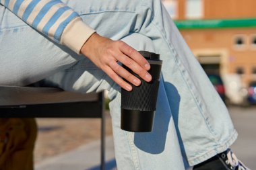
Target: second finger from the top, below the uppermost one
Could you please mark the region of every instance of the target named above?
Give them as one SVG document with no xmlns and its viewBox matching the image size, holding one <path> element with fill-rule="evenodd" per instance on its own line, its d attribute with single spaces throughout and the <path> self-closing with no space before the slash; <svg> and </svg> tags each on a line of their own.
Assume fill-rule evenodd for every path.
<svg viewBox="0 0 256 170">
<path fill-rule="evenodd" d="M 129 58 L 129 56 L 126 56 L 125 54 L 120 53 L 118 56 L 116 56 L 116 58 L 121 63 L 123 63 L 123 65 L 127 66 L 129 69 L 131 69 L 131 71 L 133 71 L 134 73 L 139 75 L 139 77 L 141 77 L 145 81 L 152 80 L 152 76 L 150 75 L 150 73 L 148 73 L 148 71 L 146 71 L 140 65 L 138 65 L 137 62 L 135 62 L 134 60 Z M 111 67 L 111 68 L 113 68 L 113 67 Z"/>
</svg>

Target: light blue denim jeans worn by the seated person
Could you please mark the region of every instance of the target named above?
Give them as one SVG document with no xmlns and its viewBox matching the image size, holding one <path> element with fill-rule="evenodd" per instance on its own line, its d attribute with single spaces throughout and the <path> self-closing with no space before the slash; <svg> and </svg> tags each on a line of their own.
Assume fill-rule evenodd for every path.
<svg viewBox="0 0 256 170">
<path fill-rule="evenodd" d="M 65 1 L 98 34 L 160 54 L 152 132 L 120 128 L 120 87 L 88 58 L 55 44 L 0 5 L 0 84 L 108 90 L 118 169 L 185 169 L 236 139 L 228 110 L 158 0 Z"/>
</svg>

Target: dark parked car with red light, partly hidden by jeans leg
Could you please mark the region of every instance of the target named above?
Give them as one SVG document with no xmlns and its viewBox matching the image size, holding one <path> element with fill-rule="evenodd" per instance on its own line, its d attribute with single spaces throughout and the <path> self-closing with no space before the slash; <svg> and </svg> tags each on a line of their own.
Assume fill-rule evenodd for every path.
<svg viewBox="0 0 256 170">
<path fill-rule="evenodd" d="M 220 97 L 226 103 L 225 87 L 220 75 L 207 75 L 214 85 L 216 91 L 219 93 Z"/>
</svg>

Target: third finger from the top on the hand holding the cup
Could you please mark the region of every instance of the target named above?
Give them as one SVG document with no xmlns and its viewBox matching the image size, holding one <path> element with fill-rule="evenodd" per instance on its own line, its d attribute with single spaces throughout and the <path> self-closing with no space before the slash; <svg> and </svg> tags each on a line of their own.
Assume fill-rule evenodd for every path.
<svg viewBox="0 0 256 170">
<path fill-rule="evenodd" d="M 129 71 L 125 70 L 114 60 L 110 62 L 110 68 L 113 69 L 113 71 L 115 71 L 117 75 L 123 77 L 124 79 L 127 79 L 127 81 L 129 81 L 130 83 L 133 83 L 133 85 L 140 85 L 141 81 L 137 77 L 129 73 Z"/>
</svg>

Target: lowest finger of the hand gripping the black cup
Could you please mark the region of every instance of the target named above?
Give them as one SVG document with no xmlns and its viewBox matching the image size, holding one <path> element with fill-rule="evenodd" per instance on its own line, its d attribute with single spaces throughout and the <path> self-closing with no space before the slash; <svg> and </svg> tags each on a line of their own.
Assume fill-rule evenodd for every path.
<svg viewBox="0 0 256 170">
<path fill-rule="evenodd" d="M 113 71 L 110 67 L 105 67 L 104 72 L 123 89 L 126 89 L 127 91 L 132 90 L 131 85 L 129 85 L 129 83 L 125 82 L 121 77 L 119 77 L 119 75 L 117 75 L 117 73 L 115 73 L 115 71 Z"/>
</svg>

